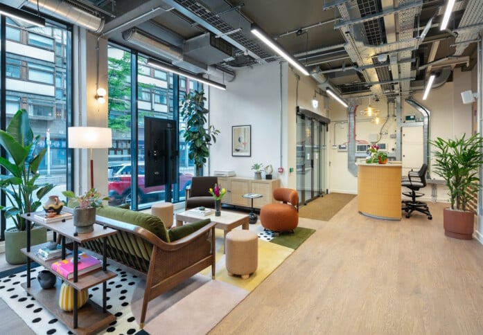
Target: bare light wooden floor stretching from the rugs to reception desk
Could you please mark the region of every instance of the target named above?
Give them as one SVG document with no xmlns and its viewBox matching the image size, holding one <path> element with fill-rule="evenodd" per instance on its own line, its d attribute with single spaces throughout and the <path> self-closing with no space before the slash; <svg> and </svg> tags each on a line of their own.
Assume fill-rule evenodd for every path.
<svg viewBox="0 0 483 335">
<path fill-rule="evenodd" d="M 210 334 L 483 334 L 483 246 L 432 221 L 370 219 L 353 199 Z"/>
</svg>

